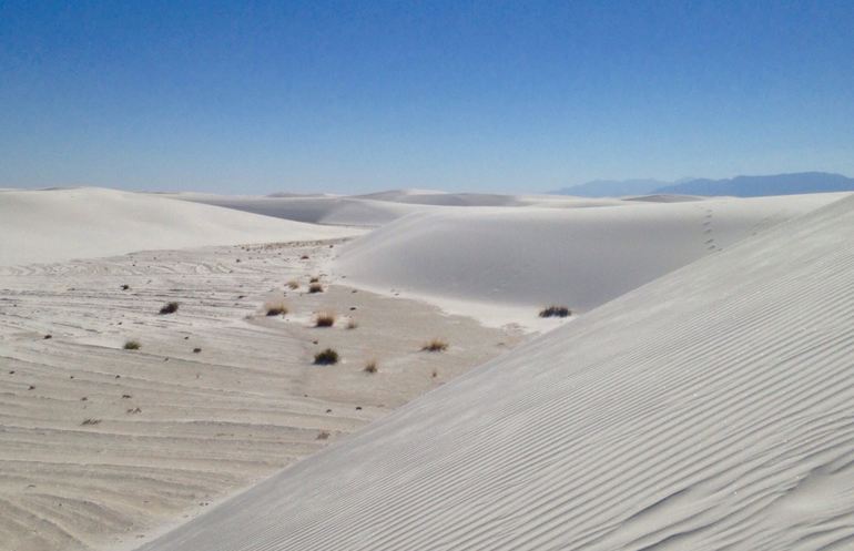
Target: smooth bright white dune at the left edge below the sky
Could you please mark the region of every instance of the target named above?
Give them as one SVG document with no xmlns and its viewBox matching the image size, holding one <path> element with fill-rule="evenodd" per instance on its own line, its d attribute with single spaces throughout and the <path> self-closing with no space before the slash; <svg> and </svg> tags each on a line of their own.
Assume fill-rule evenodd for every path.
<svg viewBox="0 0 854 551">
<path fill-rule="evenodd" d="M 92 187 L 0 192 L 0 265 L 357 233 L 152 194 Z"/>
</svg>

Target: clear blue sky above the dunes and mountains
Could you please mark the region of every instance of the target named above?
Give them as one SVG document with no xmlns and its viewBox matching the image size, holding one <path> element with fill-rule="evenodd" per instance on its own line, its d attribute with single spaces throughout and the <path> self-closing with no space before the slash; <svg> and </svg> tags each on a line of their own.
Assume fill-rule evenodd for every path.
<svg viewBox="0 0 854 551">
<path fill-rule="evenodd" d="M 854 2 L 0 0 L 0 187 L 854 175 Z"/>
</svg>

